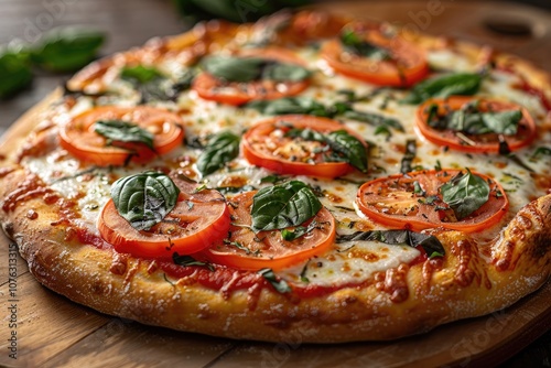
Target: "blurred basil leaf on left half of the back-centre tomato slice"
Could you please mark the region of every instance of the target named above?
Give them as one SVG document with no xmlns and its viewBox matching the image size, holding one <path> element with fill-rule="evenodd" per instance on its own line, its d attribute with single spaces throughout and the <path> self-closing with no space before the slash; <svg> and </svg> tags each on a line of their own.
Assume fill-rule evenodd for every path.
<svg viewBox="0 0 551 368">
<path fill-rule="evenodd" d="M 205 71 L 228 82 L 251 82 L 259 79 L 266 59 L 260 57 L 209 56 L 202 63 Z"/>
</svg>

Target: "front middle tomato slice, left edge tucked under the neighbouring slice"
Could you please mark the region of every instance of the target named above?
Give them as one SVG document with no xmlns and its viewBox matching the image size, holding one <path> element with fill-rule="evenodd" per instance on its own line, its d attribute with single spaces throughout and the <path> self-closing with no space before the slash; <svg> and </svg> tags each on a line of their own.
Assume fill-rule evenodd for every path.
<svg viewBox="0 0 551 368">
<path fill-rule="evenodd" d="M 281 230 L 255 234 L 250 229 L 250 209 L 255 193 L 257 192 L 242 193 L 230 201 L 229 213 L 233 223 L 229 238 L 205 249 L 202 255 L 206 259 L 242 270 L 276 270 L 322 255 L 333 245 L 336 235 L 335 219 L 325 207 L 311 220 L 316 221 L 314 229 L 295 240 L 283 240 Z M 311 221 L 303 226 L 310 225 Z"/>
</svg>

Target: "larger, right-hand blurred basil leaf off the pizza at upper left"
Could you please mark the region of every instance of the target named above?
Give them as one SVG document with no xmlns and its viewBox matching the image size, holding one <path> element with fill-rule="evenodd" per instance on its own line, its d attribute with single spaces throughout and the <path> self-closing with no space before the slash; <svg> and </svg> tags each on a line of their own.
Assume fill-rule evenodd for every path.
<svg viewBox="0 0 551 368">
<path fill-rule="evenodd" d="M 43 40 L 31 55 L 33 62 L 53 72 L 74 72 L 96 57 L 106 36 L 102 32 L 66 26 L 47 32 Z"/>
</svg>

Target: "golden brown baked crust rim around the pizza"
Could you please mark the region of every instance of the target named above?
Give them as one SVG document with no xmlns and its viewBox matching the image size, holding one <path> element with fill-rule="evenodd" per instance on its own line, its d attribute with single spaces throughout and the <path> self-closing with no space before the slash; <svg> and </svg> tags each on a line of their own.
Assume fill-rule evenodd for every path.
<svg viewBox="0 0 551 368">
<path fill-rule="evenodd" d="M 296 24 L 304 26 L 299 21 Z M 226 35 L 222 41 L 217 39 L 220 28 Z M 148 53 L 168 47 L 169 52 L 183 53 L 182 57 L 192 59 L 205 47 L 216 47 L 216 42 L 229 42 L 238 31 L 249 30 L 208 23 L 168 42 L 150 44 Z M 434 37 L 418 37 L 423 44 L 436 42 Z M 480 47 L 458 45 L 474 57 L 483 53 Z M 109 61 L 86 68 L 74 79 L 73 87 L 83 87 Z M 509 55 L 498 55 L 497 62 L 512 63 L 533 85 L 551 90 L 548 75 L 530 64 Z M 21 147 L 21 141 L 41 122 L 40 112 L 46 111 L 56 98 L 58 94 L 25 115 L 4 137 L 2 152 L 7 156 L 2 166 L 10 169 L 2 172 L 0 197 L 4 199 L 0 220 L 41 283 L 100 312 L 231 338 L 311 343 L 382 340 L 511 305 L 550 277 L 551 195 L 548 195 L 523 207 L 490 243 L 478 243 L 457 231 L 435 231 L 447 251 L 444 261 L 402 264 L 376 274 L 374 282 L 365 288 L 344 288 L 305 299 L 262 288 L 251 302 L 257 296 L 250 290 L 238 290 L 228 296 L 190 282 L 188 278 L 179 279 L 155 268 L 153 261 L 80 242 L 63 221 L 61 208 L 66 204 L 55 194 L 45 195 L 47 190 L 24 195 L 25 185 L 34 190 L 46 186 L 14 164 L 13 154 L 8 152 Z M 40 214 L 39 217 L 31 212 Z"/>
</svg>

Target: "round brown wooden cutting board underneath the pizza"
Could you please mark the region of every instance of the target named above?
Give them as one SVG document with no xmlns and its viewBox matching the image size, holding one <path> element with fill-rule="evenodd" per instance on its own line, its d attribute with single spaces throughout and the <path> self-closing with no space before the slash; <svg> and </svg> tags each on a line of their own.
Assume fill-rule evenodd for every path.
<svg viewBox="0 0 551 368">
<path fill-rule="evenodd" d="M 428 33 L 484 42 L 541 65 L 551 59 L 551 15 L 548 13 L 501 3 L 439 1 L 439 9 L 428 8 L 430 3 L 436 2 L 333 2 L 320 7 L 413 24 Z M 497 14 L 508 14 L 512 23 L 528 22 L 531 35 L 490 31 L 484 22 L 496 19 Z M 550 69 L 550 64 L 547 66 Z M 15 123 L 4 139 L 24 129 Z M 19 256 L 10 262 L 10 257 L 15 256 L 10 243 L 0 236 L 0 366 L 494 366 L 551 327 L 551 283 L 548 282 L 507 310 L 392 343 L 320 346 L 303 344 L 301 336 L 289 336 L 288 343 L 267 344 L 185 334 L 114 318 L 69 302 L 41 286 Z M 9 355 L 12 347 L 17 359 Z"/>
</svg>

